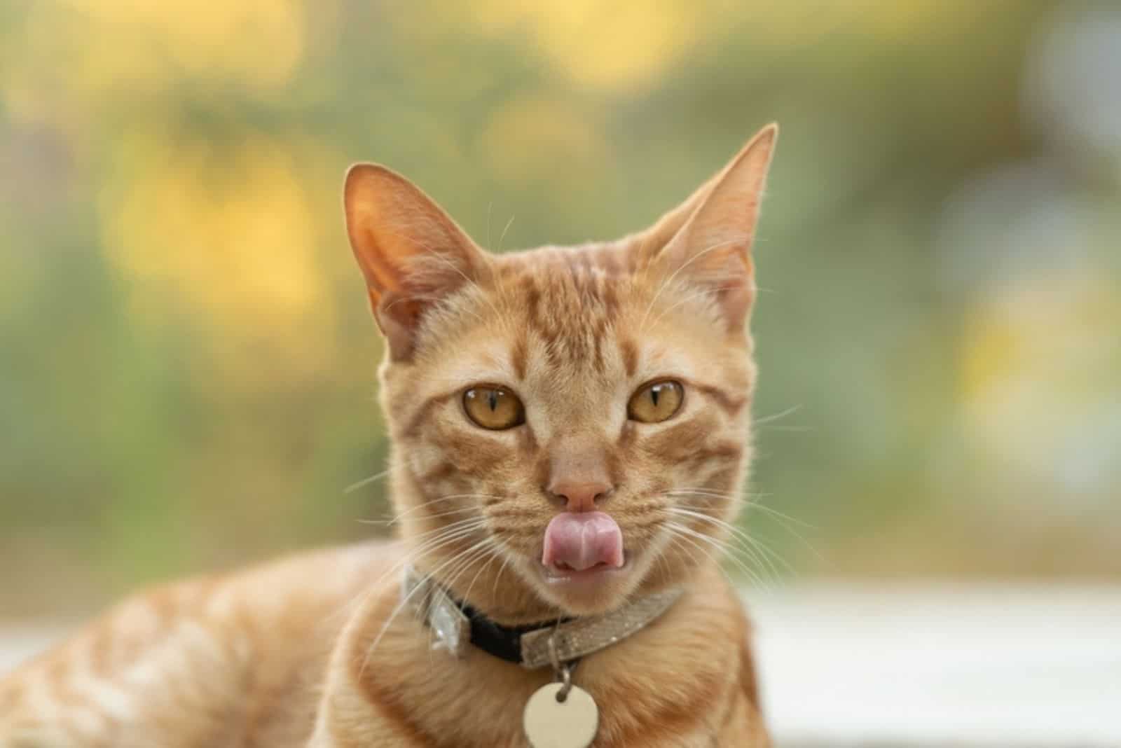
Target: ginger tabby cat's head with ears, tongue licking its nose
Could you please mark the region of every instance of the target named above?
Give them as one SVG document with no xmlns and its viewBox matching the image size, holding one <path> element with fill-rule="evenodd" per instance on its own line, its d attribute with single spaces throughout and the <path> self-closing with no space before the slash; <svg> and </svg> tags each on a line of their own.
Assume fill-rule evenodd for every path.
<svg viewBox="0 0 1121 748">
<path fill-rule="evenodd" d="M 404 177 L 350 170 L 419 569 L 517 623 L 604 611 L 720 555 L 750 451 L 750 252 L 776 134 L 647 231 L 500 255 Z"/>
</svg>

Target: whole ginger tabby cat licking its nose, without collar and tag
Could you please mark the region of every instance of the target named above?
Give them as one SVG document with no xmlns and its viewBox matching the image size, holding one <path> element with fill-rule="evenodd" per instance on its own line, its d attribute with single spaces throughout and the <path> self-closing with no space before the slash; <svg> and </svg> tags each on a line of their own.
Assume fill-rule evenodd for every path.
<svg viewBox="0 0 1121 748">
<path fill-rule="evenodd" d="M 406 562 L 506 627 L 683 589 L 573 671 L 592 745 L 769 745 L 717 564 L 750 457 L 750 250 L 776 135 L 647 231 L 503 255 L 405 178 L 353 167 L 401 540 L 121 604 L 0 681 L 0 748 L 529 745 L 522 709 L 553 668 L 434 649 Z"/>
</svg>

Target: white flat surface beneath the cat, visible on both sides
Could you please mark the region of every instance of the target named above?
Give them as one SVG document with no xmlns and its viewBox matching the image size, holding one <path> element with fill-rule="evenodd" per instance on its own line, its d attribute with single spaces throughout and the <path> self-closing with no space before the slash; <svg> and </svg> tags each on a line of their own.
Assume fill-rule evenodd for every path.
<svg viewBox="0 0 1121 748">
<path fill-rule="evenodd" d="M 1121 587 L 745 593 L 779 745 L 1121 747 Z M 64 633 L 0 628 L 0 673 Z"/>
</svg>

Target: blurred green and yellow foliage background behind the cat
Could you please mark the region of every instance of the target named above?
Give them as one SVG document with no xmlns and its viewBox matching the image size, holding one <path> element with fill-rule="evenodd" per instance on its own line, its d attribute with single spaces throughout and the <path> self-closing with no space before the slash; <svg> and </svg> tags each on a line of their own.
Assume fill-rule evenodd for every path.
<svg viewBox="0 0 1121 748">
<path fill-rule="evenodd" d="M 385 516 L 349 162 L 502 250 L 646 225 L 771 120 L 763 576 L 1121 574 L 1121 150 L 1031 93 L 1056 8 L 0 6 L 0 614 Z"/>
</svg>

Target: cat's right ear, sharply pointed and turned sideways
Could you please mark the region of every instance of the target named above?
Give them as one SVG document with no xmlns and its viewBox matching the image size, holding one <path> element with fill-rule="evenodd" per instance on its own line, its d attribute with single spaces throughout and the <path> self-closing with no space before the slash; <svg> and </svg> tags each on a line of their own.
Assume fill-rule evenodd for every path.
<svg viewBox="0 0 1121 748">
<path fill-rule="evenodd" d="M 777 124 L 760 130 L 642 242 L 649 253 L 642 264 L 711 289 L 731 329 L 742 328 L 754 300 L 751 244 L 777 137 Z"/>
</svg>

